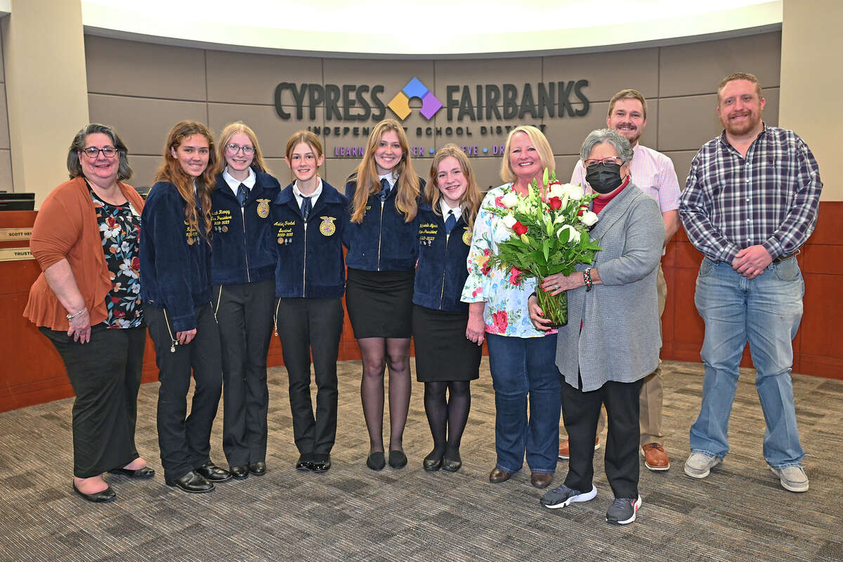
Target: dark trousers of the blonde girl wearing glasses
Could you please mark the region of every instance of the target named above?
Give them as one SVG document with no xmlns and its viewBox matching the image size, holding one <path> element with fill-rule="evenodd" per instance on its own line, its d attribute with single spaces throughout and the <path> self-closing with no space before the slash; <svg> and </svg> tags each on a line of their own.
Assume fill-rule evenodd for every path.
<svg viewBox="0 0 843 562">
<path fill-rule="evenodd" d="M 229 466 L 266 461 L 266 353 L 275 280 L 213 287 L 223 344 L 223 451 Z"/>
</svg>

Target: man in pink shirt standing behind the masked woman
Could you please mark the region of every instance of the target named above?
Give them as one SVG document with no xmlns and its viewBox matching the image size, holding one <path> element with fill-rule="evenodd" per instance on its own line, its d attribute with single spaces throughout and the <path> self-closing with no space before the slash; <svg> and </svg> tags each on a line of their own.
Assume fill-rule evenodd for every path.
<svg viewBox="0 0 843 562">
<path fill-rule="evenodd" d="M 679 181 L 676 179 L 674 163 L 662 153 L 652 148 L 643 147 L 638 143 L 644 128 L 647 126 L 647 99 L 633 89 L 621 90 L 609 101 L 609 115 L 606 116 L 606 126 L 626 136 L 633 147 L 630 163 L 632 183 L 644 193 L 658 201 L 658 206 L 664 218 L 666 231 L 664 244 L 673 238 L 679 228 Z M 577 162 L 571 176 L 572 184 L 586 186 L 583 162 Z M 664 312 L 664 302 L 668 296 L 668 286 L 664 281 L 661 264 L 658 265 L 658 315 Z M 661 440 L 662 433 L 662 399 L 663 383 L 661 367 L 647 375 L 641 388 L 641 452 L 644 463 L 650 470 L 667 470 L 670 468 L 668 453 L 664 451 Z M 606 424 L 605 414 L 600 413 L 598 434 Z M 599 439 L 599 437 L 598 437 Z M 599 441 L 594 448 L 599 447 Z M 562 442 L 559 447 L 559 457 L 568 458 L 568 442 Z"/>
</svg>

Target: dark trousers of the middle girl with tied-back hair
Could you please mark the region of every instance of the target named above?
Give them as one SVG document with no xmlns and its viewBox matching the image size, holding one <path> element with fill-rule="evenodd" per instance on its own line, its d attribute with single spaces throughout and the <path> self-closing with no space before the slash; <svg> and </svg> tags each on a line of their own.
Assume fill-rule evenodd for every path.
<svg viewBox="0 0 843 562">
<path fill-rule="evenodd" d="M 336 358 L 344 313 L 339 298 L 282 298 L 277 308 L 284 366 L 290 380 L 293 439 L 300 453 L 329 454 L 336 439 Z M 316 416 L 310 402 L 310 352 L 316 374 Z"/>
</svg>

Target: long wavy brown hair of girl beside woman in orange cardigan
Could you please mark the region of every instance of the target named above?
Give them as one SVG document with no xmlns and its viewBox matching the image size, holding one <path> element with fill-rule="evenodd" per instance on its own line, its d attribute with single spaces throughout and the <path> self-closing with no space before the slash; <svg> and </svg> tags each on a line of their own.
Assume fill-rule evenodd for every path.
<svg viewBox="0 0 843 562">
<path fill-rule="evenodd" d="M 176 148 L 188 136 L 201 135 L 208 142 L 208 165 L 201 176 L 196 178 L 196 196 L 199 197 L 199 206 L 202 211 L 202 228 L 199 228 L 199 217 L 196 214 L 196 196 L 193 194 L 194 179 L 185 174 L 181 169 L 181 163 L 173 157 Z M 207 126 L 199 121 L 179 121 L 173 126 L 164 142 L 164 162 L 158 166 L 155 172 L 155 181 L 169 181 L 179 190 L 179 195 L 185 200 L 185 221 L 196 229 L 196 232 L 204 232 L 205 239 L 210 242 L 211 234 L 211 191 L 214 186 L 213 169 L 217 163 L 217 155 L 214 153 L 213 136 Z"/>
</svg>

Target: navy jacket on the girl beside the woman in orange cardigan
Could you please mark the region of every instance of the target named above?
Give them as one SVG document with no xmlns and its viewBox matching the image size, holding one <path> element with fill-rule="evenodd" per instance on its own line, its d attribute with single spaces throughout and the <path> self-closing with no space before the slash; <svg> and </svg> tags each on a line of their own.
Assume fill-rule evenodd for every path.
<svg viewBox="0 0 843 562">
<path fill-rule="evenodd" d="M 185 200 L 175 185 L 159 181 L 141 215 L 141 298 L 164 308 L 175 332 L 196 328 L 196 308 L 211 302 L 211 247 L 187 225 Z M 199 225 L 201 210 L 196 208 Z"/>
</svg>

